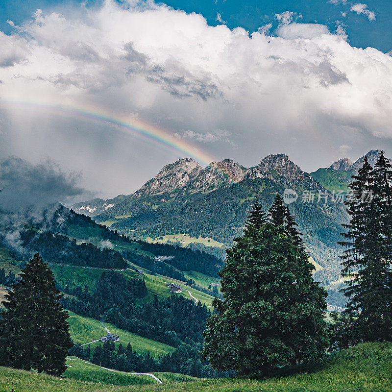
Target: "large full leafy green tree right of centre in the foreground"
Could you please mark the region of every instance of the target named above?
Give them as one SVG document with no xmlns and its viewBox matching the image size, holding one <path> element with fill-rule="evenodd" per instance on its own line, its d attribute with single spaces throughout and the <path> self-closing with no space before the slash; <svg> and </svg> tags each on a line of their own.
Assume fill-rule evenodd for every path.
<svg viewBox="0 0 392 392">
<path fill-rule="evenodd" d="M 322 357 L 326 293 L 313 268 L 284 225 L 248 226 L 227 251 L 224 301 L 214 300 L 216 312 L 207 319 L 203 356 L 212 367 L 268 375 Z"/>
</svg>

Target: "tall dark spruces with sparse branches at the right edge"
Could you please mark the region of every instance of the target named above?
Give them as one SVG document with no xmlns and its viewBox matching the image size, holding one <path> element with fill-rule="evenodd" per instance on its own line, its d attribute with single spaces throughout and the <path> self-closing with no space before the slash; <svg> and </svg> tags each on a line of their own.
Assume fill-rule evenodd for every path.
<svg viewBox="0 0 392 392">
<path fill-rule="evenodd" d="M 353 178 L 346 202 L 351 220 L 341 242 L 347 248 L 341 256 L 346 313 L 362 340 L 391 341 L 391 165 L 381 152 L 374 170 L 365 159 Z"/>
</svg>

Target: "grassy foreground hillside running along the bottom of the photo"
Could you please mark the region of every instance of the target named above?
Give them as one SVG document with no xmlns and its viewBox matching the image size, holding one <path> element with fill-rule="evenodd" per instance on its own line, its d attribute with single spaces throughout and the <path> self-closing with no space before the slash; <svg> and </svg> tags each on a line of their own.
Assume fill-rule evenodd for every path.
<svg viewBox="0 0 392 392">
<path fill-rule="evenodd" d="M 328 355 L 323 364 L 310 369 L 294 368 L 286 376 L 206 379 L 169 386 L 109 386 L 0 368 L 0 392 L 10 392 L 11 388 L 16 392 L 391 392 L 391 358 L 391 343 L 365 343 Z"/>
</svg>

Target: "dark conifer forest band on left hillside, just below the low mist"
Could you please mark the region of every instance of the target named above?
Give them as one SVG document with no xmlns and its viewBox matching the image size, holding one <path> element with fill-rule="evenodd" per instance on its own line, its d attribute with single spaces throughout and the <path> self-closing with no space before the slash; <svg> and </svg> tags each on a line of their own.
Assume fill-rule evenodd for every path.
<svg viewBox="0 0 392 392">
<path fill-rule="evenodd" d="M 123 256 L 113 249 L 100 249 L 93 244 L 76 244 L 76 240 L 51 232 L 37 233 L 35 230 L 21 232 L 24 250 L 11 249 L 12 257 L 23 260 L 33 253 L 40 253 L 49 263 L 70 264 L 107 269 L 125 269 Z"/>
</svg>

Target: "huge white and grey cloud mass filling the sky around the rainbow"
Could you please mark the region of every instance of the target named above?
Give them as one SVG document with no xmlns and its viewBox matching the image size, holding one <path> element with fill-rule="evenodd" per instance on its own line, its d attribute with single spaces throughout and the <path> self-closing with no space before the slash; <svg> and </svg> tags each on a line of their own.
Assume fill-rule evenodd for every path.
<svg viewBox="0 0 392 392">
<path fill-rule="evenodd" d="M 343 27 L 333 33 L 301 24 L 290 11 L 276 18 L 271 36 L 268 25 L 249 34 L 152 2 L 106 0 L 67 15 L 39 11 L 0 36 L 7 48 L 0 53 L 0 156 L 26 157 L 32 149 L 37 160 L 49 153 L 83 170 L 90 188 L 97 178 L 110 184 L 111 196 L 131 193 L 169 159 L 183 157 L 110 124 L 49 116 L 48 102 L 137 117 L 187 137 L 216 160 L 232 157 L 245 166 L 285 151 L 314 170 L 328 151 L 350 145 L 345 137 L 358 140 L 358 156 L 375 138 L 390 143 L 391 56 L 351 47 Z M 21 100 L 42 109 L 13 105 Z M 238 148 L 220 144 L 225 138 Z"/>
</svg>

